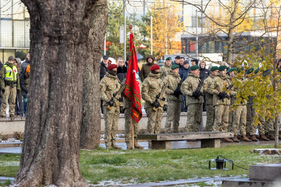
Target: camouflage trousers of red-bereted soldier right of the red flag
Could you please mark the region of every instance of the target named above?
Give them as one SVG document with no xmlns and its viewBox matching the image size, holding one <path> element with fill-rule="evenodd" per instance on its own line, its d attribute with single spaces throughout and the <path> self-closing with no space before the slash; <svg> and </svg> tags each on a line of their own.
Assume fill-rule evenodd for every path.
<svg viewBox="0 0 281 187">
<path fill-rule="evenodd" d="M 155 112 L 153 107 L 144 109 L 148 118 L 146 131 L 148 134 L 159 134 L 161 121 L 163 118 L 163 108 L 159 107 Z M 151 145 L 151 140 L 148 140 L 148 144 Z"/>
</svg>

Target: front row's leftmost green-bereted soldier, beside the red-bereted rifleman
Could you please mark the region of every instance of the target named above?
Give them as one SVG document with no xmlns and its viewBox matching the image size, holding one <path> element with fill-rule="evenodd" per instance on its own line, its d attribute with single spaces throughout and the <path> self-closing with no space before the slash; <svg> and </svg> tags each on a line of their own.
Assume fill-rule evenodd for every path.
<svg viewBox="0 0 281 187">
<path fill-rule="evenodd" d="M 178 74 L 179 66 L 174 64 L 171 67 L 172 72 L 164 79 L 164 83 L 168 83 L 166 89 L 167 96 L 167 119 L 165 123 L 165 133 L 178 133 L 178 126 L 181 115 L 181 91 L 177 90 L 181 81 Z M 171 132 L 171 123 L 173 123 L 173 131 Z"/>
</svg>

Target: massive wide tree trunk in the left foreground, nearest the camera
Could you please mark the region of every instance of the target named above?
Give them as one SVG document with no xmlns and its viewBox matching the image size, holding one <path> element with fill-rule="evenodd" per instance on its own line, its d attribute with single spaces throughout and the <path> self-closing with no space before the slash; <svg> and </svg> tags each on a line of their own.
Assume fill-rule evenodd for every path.
<svg viewBox="0 0 281 187">
<path fill-rule="evenodd" d="M 18 186 L 88 186 L 80 172 L 83 71 L 96 1 L 22 0 L 31 74 Z"/>
</svg>

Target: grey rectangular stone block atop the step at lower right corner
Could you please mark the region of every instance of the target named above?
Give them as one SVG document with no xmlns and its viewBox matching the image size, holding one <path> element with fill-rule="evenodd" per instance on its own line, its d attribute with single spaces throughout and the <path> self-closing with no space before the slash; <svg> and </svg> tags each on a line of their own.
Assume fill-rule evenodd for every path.
<svg viewBox="0 0 281 187">
<path fill-rule="evenodd" d="M 250 180 L 281 180 L 281 164 L 249 166 Z"/>
</svg>

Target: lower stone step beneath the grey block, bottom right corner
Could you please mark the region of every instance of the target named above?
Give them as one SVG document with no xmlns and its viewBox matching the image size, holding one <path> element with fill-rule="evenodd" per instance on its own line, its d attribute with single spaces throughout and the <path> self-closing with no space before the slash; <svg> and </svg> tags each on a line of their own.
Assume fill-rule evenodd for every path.
<svg viewBox="0 0 281 187">
<path fill-rule="evenodd" d="M 280 173 L 279 173 L 280 174 Z M 223 180 L 223 187 L 275 187 L 281 186 L 280 181 L 269 181 L 269 180 L 250 180 L 249 178 L 243 179 L 232 179 L 232 180 Z"/>
</svg>

